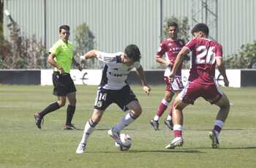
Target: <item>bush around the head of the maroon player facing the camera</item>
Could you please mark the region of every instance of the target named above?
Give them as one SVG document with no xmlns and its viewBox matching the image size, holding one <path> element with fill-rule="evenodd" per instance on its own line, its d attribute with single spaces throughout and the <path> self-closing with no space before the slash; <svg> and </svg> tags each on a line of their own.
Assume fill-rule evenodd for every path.
<svg viewBox="0 0 256 168">
<path fill-rule="evenodd" d="M 171 18 L 165 18 L 165 26 L 164 26 L 164 37 L 167 38 L 167 25 L 168 23 L 175 22 L 178 24 L 178 39 L 184 40 L 184 42 L 189 41 L 189 19 L 185 18 L 176 18 L 172 16 Z"/>
</svg>

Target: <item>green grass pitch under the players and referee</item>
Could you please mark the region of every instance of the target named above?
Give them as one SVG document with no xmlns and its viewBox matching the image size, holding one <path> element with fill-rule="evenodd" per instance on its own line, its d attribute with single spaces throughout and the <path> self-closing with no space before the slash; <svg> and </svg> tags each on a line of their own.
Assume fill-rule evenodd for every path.
<svg viewBox="0 0 256 168">
<path fill-rule="evenodd" d="M 77 88 L 73 123 L 83 129 L 93 110 L 97 86 Z M 165 150 L 173 137 L 163 123 L 167 113 L 159 121 L 159 131 L 148 123 L 164 95 L 164 86 L 152 86 L 151 96 L 139 85 L 132 89 L 143 107 L 140 118 L 123 131 L 132 137 L 132 148 L 118 151 L 108 137 L 108 129 L 124 115 L 113 104 L 91 134 L 86 153 L 78 155 L 75 150 L 83 131 L 63 130 L 67 104 L 45 117 L 42 130 L 34 124 L 34 112 L 56 101 L 51 86 L 0 85 L 0 167 L 256 167 L 256 88 L 222 88 L 231 110 L 219 149 L 212 149 L 208 138 L 218 108 L 203 99 L 187 107 L 184 145 L 175 150 Z"/>
</svg>

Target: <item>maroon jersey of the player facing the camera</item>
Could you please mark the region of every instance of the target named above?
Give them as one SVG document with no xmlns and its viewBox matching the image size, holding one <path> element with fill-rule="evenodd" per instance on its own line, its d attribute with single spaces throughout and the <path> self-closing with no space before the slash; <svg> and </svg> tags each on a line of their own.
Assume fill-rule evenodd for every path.
<svg viewBox="0 0 256 168">
<path fill-rule="evenodd" d="M 178 55 L 178 52 L 181 50 L 183 47 L 183 43 L 180 40 L 173 41 L 171 39 L 165 39 L 161 42 L 158 52 L 157 52 L 157 57 L 162 58 L 162 56 L 165 54 L 165 58 L 169 59 L 171 64 L 174 64 L 175 59 Z M 178 66 L 176 75 L 181 76 L 181 66 Z"/>
</svg>

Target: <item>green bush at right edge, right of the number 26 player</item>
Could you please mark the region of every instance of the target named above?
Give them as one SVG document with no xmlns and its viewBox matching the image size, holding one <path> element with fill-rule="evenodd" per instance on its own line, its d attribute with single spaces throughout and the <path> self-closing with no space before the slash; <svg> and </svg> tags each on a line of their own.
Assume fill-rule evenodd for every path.
<svg viewBox="0 0 256 168">
<path fill-rule="evenodd" d="M 238 53 L 227 56 L 225 66 L 227 69 L 256 68 L 256 41 L 242 45 Z"/>
</svg>

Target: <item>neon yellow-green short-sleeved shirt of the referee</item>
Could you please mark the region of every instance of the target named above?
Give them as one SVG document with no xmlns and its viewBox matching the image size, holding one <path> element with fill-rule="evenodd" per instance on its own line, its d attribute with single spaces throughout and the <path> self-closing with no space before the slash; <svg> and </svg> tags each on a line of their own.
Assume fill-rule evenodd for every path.
<svg viewBox="0 0 256 168">
<path fill-rule="evenodd" d="M 56 63 L 64 69 L 64 72 L 69 73 L 73 58 L 72 42 L 68 41 L 66 43 L 59 39 L 59 41 L 50 48 L 49 52 L 54 54 Z M 54 71 L 58 71 L 58 69 L 54 68 Z"/>
</svg>

